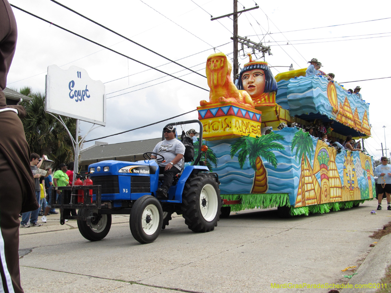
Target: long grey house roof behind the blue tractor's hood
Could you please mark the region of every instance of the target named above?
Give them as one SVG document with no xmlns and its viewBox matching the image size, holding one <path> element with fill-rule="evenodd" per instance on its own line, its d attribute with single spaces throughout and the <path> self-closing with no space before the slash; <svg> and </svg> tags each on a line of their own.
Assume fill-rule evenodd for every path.
<svg viewBox="0 0 391 293">
<path fill-rule="evenodd" d="M 161 138 L 152 138 L 119 144 L 95 142 L 94 146 L 87 147 L 80 152 L 81 161 L 100 160 L 105 158 L 140 155 L 151 152 Z"/>
</svg>

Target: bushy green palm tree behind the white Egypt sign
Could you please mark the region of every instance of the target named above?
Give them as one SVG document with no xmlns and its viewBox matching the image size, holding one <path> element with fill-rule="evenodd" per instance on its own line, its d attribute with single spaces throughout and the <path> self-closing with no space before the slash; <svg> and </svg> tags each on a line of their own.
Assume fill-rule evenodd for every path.
<svg viewBox="0 0 391 293">
<path fill-rule="evenodd" d="M 19 92 L 32 98 L 31 101 L 22 102 L 27 111 L 22 123 L 31 152 L 47 155 L 50 160 L 55 162 L 54 167 L 73 161 L 74 151 L 68 132 L 56 118 L 45 112 L 44 94 L 33 93 L 30 87 L 24 87 Z M 65 116 L 61 117 L 74 137 L 76 120 Z"/>
</svg>

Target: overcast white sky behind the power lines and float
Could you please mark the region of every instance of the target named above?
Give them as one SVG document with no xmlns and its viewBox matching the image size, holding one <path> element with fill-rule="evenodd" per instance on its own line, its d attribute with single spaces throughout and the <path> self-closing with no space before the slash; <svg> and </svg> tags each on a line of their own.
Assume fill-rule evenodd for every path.
<svg viewBox="0 0 391 293">
<path fill-rule="evenodd" d="M 50 0 L 9 1 L 135 60 L 153 67 L 168 63 Z M 63 0 L 61 3 L 167 58 L 181 59 L 178 63 L 202 75 L 205 75 L 207 57 L 215 50 L 232 58 L 232 19 L 210 20 L 210 15 L 218 17 L 231 13 L 233 1 L 230 0 Z M 264 45 L 270 45 L 273 55 L 266 56 L 270 66 L 293 64 L 295 69 L 299 69 L 307 67 L 307 62 L 312 58 L 317 58 L 324 65 L 322 70 L 333 72 L 335 80 L 346 88 L 360 85 L 363 99 L 370 103 L 369 123 L 372 125 L 372 138 L 365 140 L 365 147 L 371 155 L 379 158 L 381 150 L 376 149 L 381 148 L 380 143 L 384 146 L 386 135 L 386 143 L 391 148 L 391 103 L 387 88 L 391 79 L 348 83 L 391 76 L 391 19 L 385 19 L 391 18 L 391 1 L 371 1 L 370 4 L 350 0 L 257 3 L 259 9 L 240 15 L 239 36 L 248 36 L 254 42 L 262 41 Z M 241 0 L 238 10 L 242 10 L 243 6 L 251 8 L 255 2 Z M 18 9 L 13 10 L 18 23 L 18 44 L 7 87 L 20 89 L 30 86 L 33 91 L 44 92 L 47 66 L 52 64 L 62 69 L 68 69 L 71 65 L 84 68 L 92 79 L 105 83 L 107 125 L 93 130 L 86 140 L 173 117 L 194 110 L 200 100 L 208 100 L 209 93 L 203 89 L 171 80 L 172 77 L 163 73 L 148 70 L 144 65 Z M 361 23 L 339 25 L 352 22 Z M 324 26 L 331 27 L 318 28 Z M 287 32 L 292 30 L 295 31 Z M 265 36 L 267 32 L 271 34 Z M 242 52 L 240 58 L 241 65 L 248 62 Z M 178 65 L 170 63 L 158 68 L 177 77 L 187 74 L 181 78 L 208 89 L 206 78 Z M 275 75 L 287 70 L 283 67 L 272 68 Z M 152 86 L 157 83 L 161 84 Z M 171 122 L 190 119 L 197 119 L 196 112 Z M 119 143 L 159 137 L 166 123 L 100 141 Z M 90 126 L 89 123 L 81 123 L 82 134 Z M 92 144 L 85 143 L 84 147 Z"/>
</svg>

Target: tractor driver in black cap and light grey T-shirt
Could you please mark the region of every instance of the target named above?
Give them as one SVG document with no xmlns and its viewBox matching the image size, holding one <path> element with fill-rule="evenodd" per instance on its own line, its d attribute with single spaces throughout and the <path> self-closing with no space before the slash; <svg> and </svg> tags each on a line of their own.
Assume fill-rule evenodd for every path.
<svg viewBox="0 0 391 293">
<path fill-rule="evenodd" d="M 174 126 L 167 126 L 163 128 L 164 141 L 158 143 L 153 149 L 154 153 L 162 155 L 164 162 L 159 164 L 159 173 L 164 174 L 163 184 L 157 188 L 156 194 L 159 199 L 167 200 L 167 192 L 176 174 L 182 169 L 182 158 L 185 154 L 185 146 L 176 139 Z M 156 156 L 151 156 L 156 159 Z"/>
</svg>

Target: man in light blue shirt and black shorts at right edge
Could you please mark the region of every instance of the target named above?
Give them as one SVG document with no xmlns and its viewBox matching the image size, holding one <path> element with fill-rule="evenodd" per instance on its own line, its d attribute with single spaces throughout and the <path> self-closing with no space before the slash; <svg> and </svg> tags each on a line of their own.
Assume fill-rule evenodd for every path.
<svg viewBox="0 0 391 293">
<path fill-rule="evenodd" d="M 377 209 L 382 209 L 383 193 L 387 197 L 387 209 L 391 210 L 391 165 L 388 164 L 387 157 L 380 158 L 382 164 L 377 166 L 373 171 L 374 176 L 378 176 L 378 195 L 377 195 Z"/>
</svg>

